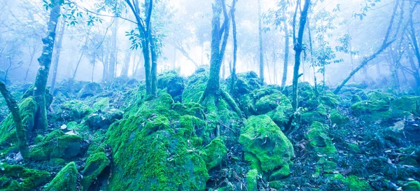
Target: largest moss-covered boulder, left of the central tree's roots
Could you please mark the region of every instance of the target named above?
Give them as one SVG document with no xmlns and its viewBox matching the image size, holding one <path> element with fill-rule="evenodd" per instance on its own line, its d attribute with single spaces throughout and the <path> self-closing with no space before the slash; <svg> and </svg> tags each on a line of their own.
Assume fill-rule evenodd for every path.
<svg viewBox="0 0 420 191">
<path fill-rule="evenodd" d="M 106 143 L 113 165 L 107 190 L 205 189 L 209 175 L 198 149 L 202 141 L 190 121 L 197 118 L 169 111 L 173 102 L 162 93 L 111 125 Z"/>
</svg>

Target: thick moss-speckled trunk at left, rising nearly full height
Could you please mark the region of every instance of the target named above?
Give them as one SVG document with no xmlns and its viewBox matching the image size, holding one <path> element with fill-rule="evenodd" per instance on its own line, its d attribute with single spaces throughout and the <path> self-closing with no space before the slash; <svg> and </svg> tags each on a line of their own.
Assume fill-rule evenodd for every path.
<svg viewBox="0 0 420 191">
<path fill-rule="evenodd" d="M 60 4 L 55 3 L 54 8 L 50 11 L 50 19 L 48 20 L 47 36 L 42 39 L 43 51 L 41 57 L 38 58 L 39 69 L 36 74 L 34 84 L 34 99 L 38 103 L 38 118 L 35 121 L 36 129 L 48 129 L 47 108 L 45 101 L 45 90 L 47 88 L 48 73 L 50 71 L 52 51 L 54 50 L 55 30 L 57 29 L 58 17 L 60 14 Z"/>
</svg>

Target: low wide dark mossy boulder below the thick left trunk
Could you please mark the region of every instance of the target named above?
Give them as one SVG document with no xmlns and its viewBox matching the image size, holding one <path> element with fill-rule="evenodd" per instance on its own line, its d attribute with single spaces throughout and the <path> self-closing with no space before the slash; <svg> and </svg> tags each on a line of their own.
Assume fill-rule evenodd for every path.
<svg viewBox="0 0 420 191">
<path fill-rule="evenodd" d="M 45 136 L 41 143 L 31 148 L 31 160 L 70 159 L 80 154 L 81 140 L 82 138 L 75 134 L 64 134 L 61 130 L 55 130 Z"/>
</svg>

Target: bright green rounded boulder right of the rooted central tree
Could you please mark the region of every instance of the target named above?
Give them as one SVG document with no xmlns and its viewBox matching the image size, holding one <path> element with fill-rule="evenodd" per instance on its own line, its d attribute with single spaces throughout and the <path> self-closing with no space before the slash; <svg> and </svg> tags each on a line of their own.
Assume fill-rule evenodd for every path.
<svg viewBox="0 0 420 191">
<path fill-rule="evenodd" d="M 290 174 L 288 166 L 294 155 L 292 143 L 267 115 L 248 118 L 241 129 L 239 143 L 254 159 L 253 163 L 260 164 L 262 172 L 270 175 L 278 175 L 278 172 L 286 176 Z"/>
</svg>

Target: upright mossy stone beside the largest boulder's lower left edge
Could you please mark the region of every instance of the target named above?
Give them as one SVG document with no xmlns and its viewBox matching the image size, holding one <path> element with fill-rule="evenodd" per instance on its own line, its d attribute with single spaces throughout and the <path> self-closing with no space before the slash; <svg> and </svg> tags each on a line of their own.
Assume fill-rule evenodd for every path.
<svg viewBox="0 0 420 191">
<path fill-rule="evenodd" d="M 87 190 L 93 181 L 109 166 L 109 159 L 105 153 L 96 153 L 87 158 L 85 169 L 83 169 L 83 190 Z"/>
</svg>

